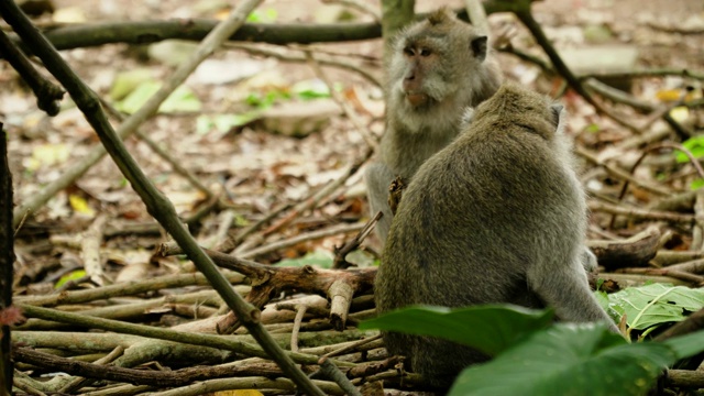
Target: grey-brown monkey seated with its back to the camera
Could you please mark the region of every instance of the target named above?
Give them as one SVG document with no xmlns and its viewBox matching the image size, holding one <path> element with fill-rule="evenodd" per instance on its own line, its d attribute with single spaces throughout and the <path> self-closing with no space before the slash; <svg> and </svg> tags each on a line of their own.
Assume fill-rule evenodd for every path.
<svg viewBox="0 0 704 396">
<path fill-rule="evenodd" d="M 380 312 L 414 304 L 513 302 L 560 320 L 604 321 L 587 286 L 584 191 L 563 135 L 563 110 L 504 85 L 404 193 L 376 276 Z M 447 387 L 487 356 L 430 338 L 385 333 L 393 354 Z"/>
</svg>

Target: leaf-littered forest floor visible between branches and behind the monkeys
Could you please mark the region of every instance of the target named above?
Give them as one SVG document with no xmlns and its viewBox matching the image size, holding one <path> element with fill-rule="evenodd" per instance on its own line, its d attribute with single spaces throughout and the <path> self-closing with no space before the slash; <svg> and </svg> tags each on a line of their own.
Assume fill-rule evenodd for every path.
<svg viewBox="0 0 704 396">
<path fill-rule="evenodd" d="M 228 2 L 219 0 L 55 0 L 54 3 L 55 12 L 37 18 L 37 25 L 172 18 L 221 19 L 228 11 L 222 8 Z M 365 3 L 377 8 L 375 1 Z M 429 11 L 439 3 L 417 0 L 417 11 Z M 442 3 L 461 8 L 463 2 Z M 618 65 L 632 67 L 631 70 L 618 70 L 624 74 L 664 68 L 698 73 L 693 77 L 669 73 L 667 76 L 617 78 L 618 84 L 628 86 L 632 99 L 650 109 L 637 110 L 596 95 L 606 108 L 618 114 L 620 122 L 597 114 L 572 90 L 568 90 L 560 100 L 571 114 L 568 133 L 574 136 L 580 153 L 578 157 L 583 163 L 582 180 L 591 195 L 593 216 L 588 239 L 618 241 L 654 224 L 659 231 L 656 248 L 690 252 L 688 257 L 691 260 L 701 257 L 704 252 L 702 224 L 694 222 L 695 196 L 688 195 L 688 191 L 701 183 L 698 179 L 704 175 L 697 175 L 691 163 L 676 161 L 670 146 L 649 152 L 632 172 L 631 184 L 623 197 L 619 195 L 624 178 L 612 170 L 618 168 L 630 173 L 646 147 L 662 142 L 682 143 L 692 138 L 686 132 L 701 134 L 703 131 L 703 107 L 688 109 L 681 106 L 681 101 L 701 101 L 704 94 L 704 2 L 551 0 L 537 2 L 534 15 L 560 52 L 586 51 L 588 47 L 596 48 L 596 56 L 613 56 L 614 47 L 624 48 L 624 53 L 636 51 L 631 64 L 617 59 Z M 254 21 L 334 23 L 341 18 L 354 22 L 372 21 L 370 15 L 359 11 L 343 12 L 340 6 L 327 6 L 316 0 L 265 1 Z M 540 46 L 514 15 L 493 14 L 490 23 L 497 36 L 510 40 L 513 48 L 546 59 Z M 6 28 L 4 23 L 2 28 Z M 261 47 L 278 50 L 267 45 Z M 315 56 L 334 58 L 354 65 L 378 80 L 382 78 L 381 40 L 316 44 L 311 48 Z M 129 112 L 138 109 L 148 92 L 154 91 L 154 86 L 167 78 L 193 50 L 191 44 L 113 44 L 64 51 L 62 54 L 102 99 Z M 301 57 L 299 50 L 299 46 L 286 48 L 287 54 Z M 540 67 L 514 54 L 498 52 L 497 56 L 507 79 L 518 80 L 548 95 L 560 92 L 561 78 L 547 75 Z M 353 238 L 369 220 L 362 180 L 369 150 L 365 139 L 378 139 L 383 132 L 382 89 L 360 73 L 336 67 L 323 67 L 322 70 L 327 80 L 332 81 L 333 89 L 342 94 L 342 100 L 352 107 L 364 127 L 362 130 L 329 97 L 329 87 L 315 67 L 305 62 L 292 63 L 253 55 L 251 51 L 231 45 L 201 64 L 188 78 L 187 91 L 172 102 L 170 110 L 163 108 L 141 127 L 141 133 L 166 151 L 172 160 L 157 155 L 145 143 L 146 138 L 131 136 L 127 140 L 130 153 L 150 179 L 172 200 L 179 216 L 189 220 L 190 230 L 199 243 L 208 248 L 220 246 L 228 240 L 228 234 L 238 234 L 265 220 L 257 229 L 250 229 L 248 232 L 251 233 L 241 234 L 244 238 L 234 250 L 239 257 L 264 264 L 330 267 L 336 246 Z M 64 100 L 57 117 L 48 118 L 37 110 L 31 90 L 7 63 L 0 63 L 0 122 L 9 135 L 14 201 L 19 206 L 61 178 L 66 169 L 80 162 L 100 142 L 69 98 Z M 652 116 L 667 112 L 684 125 L 684 134 L 673 132 L 660 117 Z M 628 129 L 623 121 L 636 128 Z M 704 147 L 704 142 L 701 144 Z M 696 150 L 692 151 L 697 154 Z M 698 155 L 702 156 L 701 152 Z M 175 170 L 172 162 L 195 175 L 201 186 L 196 186 Z M 355 163 L 363 165 L 349 175 L 350 166 Z M 316 197 L 314 206 L 305 205 L 336 180 L 340 182 L 337 188 Z M 681 198 L 679 205 L 662 204 L 678 197 Z M 284 209 L 277 211 L 282 207 Z M 268 219 L 272 213 L 275 216 Z M 616 215 L 619 216 L 613 220 Z M 669 215 L 689 217 L 683 219 Z M 85 241 L 97 223 L 101 234 L 100 260 L 97 265 L 88 265 Z M 141 311 L 97 316 L 161 327 L 190 323 L 194 318 L 222 314 L 221 301 L 202 282 L 168 288 L 147 287 L 150 292 L 135 296 L 117 293 L 109 295 L 110 299 L 96 295 L 70 305 L 59 304 L 59 290 L 63 292 L 61 296 L 65 296 L 75 290 L 99 290 L 113 283 L 143 283 L 157 276 L 193 273 L 193 265 L 184 257 L 155 254 L 155 249 L 166 241 L 139 196 L 106 156 L 22 222 L 15 242 L 15 300 L 32 304 L 38 301 L 36 298 L 40 296 L 53 296 L 58 299 L 36 304 L 58 306 L 67 311 L 95 310 L 106 306 L 135 307 L 136 302 L 151 301 Z M 378 258 L 377 245 L 372 235 L 348 260 L 360 267 L 373 266 Z M 639 264 L 647 267 L 648 261 Z M 651 268 L 656 264 L 651 262 Z M 604 273 L 624 271 L 617 267 L 619 265 L 604 268 Z M 612 274 L 612 277 L 605 274 L 602 274 L 604 278 L 616 284 L 612 285 L 615 289 L 652 279 L 701 286 L 696 273 L 692 273 L 694 277 L 666 277 L 667 273 L 662 272 L 644 274 L 637 271 Z M 164 296 L 183 298 L 177 302 L 158 300 Z M 311 301 L 307 304 L 317 307 L 326 304 L 322 298 Z M 355 309 L 362 314 L 355 320 L 366 317 L 369 311 L 365 309 L 369 308 L 367 302 L 360 302 Z M 293 310 L 289 316 L 272 319 L 270 326 L 273 331 L 287 334 L 280 327 L 283 324 L 275 322 L 290 323 L 295 308 L 288 309 Z M 274 317 L 275 309 L 270 308 L 270 311 Z M 84 333 L 80 326 L 32 320 L 18 328 L 18 340 L 36 348 L 62 351 L 63 355 L 97 359 L 118 343 L 131 345 L 134 342 L 121 338 L 122 342 L 116 343 L 98 339 L 98 333 Z M 301 348 L 317 346 L 322 341 L 315 338 L 315 331 L 330 329 L 330 326 L 314 326 L 326 321 L 317 311 L 306 320 L 311 337 L 301 338 Z M 276 330 L 276 326 L 280 328 Z M 58 338 L 57 333 L 50 331 L 64 330 L 75 338 L 65 338 L 52 345 L 54 341 L 40 339 L 36 332 L 33 333 L 35 330 L 55 338 Z M 81 334 L 91 339 L 81 340 Z M 334 342 L 363 336 L 356 331 L 341 334 Z M 91 348 L 88 341 L 99 346 Z M 381 349 L 374 351 L 383 356 Z M 184 359 L 193 358 L 195 364 L 207 362 L 202 355 L 189 355 L 191 352 L 179 353 L 183 353 L 182 358 L 186 356 Z M 221 360 L 227 359 L 222 356 Z M 144 367 L 157 370 L 162 364 L 188 366 L 184 362 L 179 364 L 160 359 L 141 363 Z M 59 371 L 37 370 L 28 364 L 18 369 L 33 375 Z M 79 386 L 72 389 L 77 393 L 88 389 L 97 392 L 97 395 L 105 383 L 86 386 L 84 391 Z"/>
</svg>

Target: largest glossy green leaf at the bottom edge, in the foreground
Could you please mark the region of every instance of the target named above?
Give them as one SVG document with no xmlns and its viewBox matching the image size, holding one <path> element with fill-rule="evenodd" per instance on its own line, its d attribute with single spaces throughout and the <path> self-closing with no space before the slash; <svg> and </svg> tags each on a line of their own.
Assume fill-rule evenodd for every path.
<svg viewBox="0 0 704 396">
<path fill-rule="evenodd" d="M 674 361 L 667 345 L 628 344 L 603 324 L 558 323 L 465 369 L 449 395 L 644 395 Z"/>
</svg>

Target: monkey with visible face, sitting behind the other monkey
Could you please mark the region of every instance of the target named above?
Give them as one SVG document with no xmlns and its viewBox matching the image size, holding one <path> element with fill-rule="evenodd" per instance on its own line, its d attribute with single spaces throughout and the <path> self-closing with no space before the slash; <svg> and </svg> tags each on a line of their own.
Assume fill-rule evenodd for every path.
<svg viewBox="0 0 704 396">
<path fill-rule="evenodd" d="M 382 243 L 393 215 L 388 186 L 400 176 L 407 184 L 420 164 L 459 133 L 468 106 L 491 97 L 502 81 L 486 36 L 441 9 L 402 31 L 387 65 L 386 129 L 377 163 L 365 172 L 372 216 Z M 416 95 L 414 102 L 410 99 Z"/>
</svg>

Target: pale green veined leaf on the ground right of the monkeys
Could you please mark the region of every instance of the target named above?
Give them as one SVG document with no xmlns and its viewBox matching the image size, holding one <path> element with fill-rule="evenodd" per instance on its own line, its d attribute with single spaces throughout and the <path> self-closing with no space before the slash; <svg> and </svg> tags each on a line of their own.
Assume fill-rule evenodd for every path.
<svg viewBox="0 0 704 396">
<path fill-rule="evenodd" d="M 652 284 L 629 287 L 609 295 L 610 307 L 626 315 L 630 328 L 645 330 L 651 326 L 683 320 L 685 311 L 704 307 L 704 289 Z"/>
</svg>

